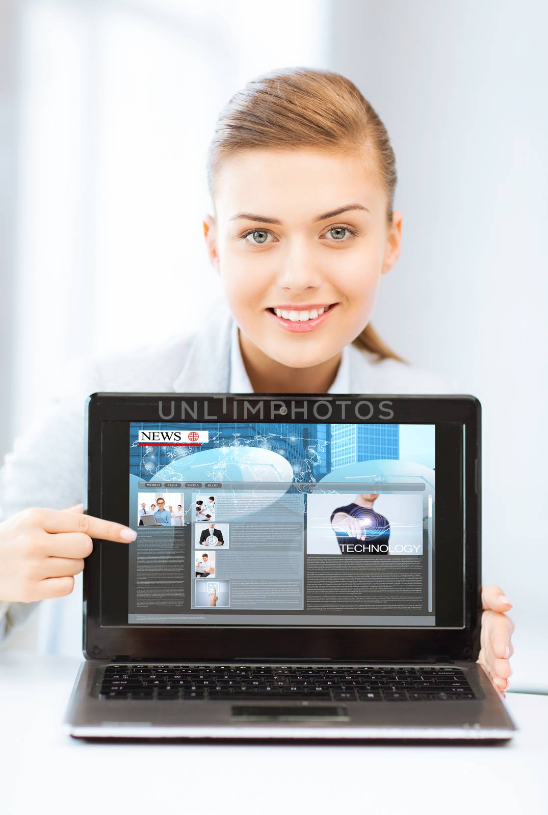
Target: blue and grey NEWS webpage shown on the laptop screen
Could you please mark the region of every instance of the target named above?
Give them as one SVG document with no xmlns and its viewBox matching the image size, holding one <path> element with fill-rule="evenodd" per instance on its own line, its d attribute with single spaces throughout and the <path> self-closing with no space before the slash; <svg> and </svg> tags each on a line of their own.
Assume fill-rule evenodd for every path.
<svg viewBox="0 0 548 815">
<path fill-rule="evenodd" d="M 131 423 L 128 622 L 435 625 L 435 425 Z"/>
</svg>

